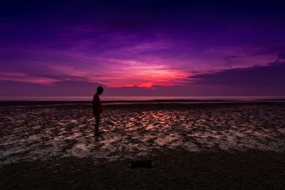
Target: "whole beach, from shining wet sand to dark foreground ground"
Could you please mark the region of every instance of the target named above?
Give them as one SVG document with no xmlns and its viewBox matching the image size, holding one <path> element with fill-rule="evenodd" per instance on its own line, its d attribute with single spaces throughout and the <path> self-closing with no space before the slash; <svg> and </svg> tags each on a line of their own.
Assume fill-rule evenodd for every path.
<svg viewBox="0 0 285 190">
<path fill-rule="evenodd" d="M 2 102 L 1 189 L 282 189 L 285 102 Z M 151 159 L 151 169 L 130 169 Z"/>
</svg>

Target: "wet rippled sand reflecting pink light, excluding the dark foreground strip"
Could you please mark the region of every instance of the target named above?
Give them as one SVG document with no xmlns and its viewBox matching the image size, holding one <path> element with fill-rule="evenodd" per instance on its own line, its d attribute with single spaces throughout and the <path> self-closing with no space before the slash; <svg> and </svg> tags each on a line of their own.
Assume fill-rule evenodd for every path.
<svg viewBox="0 0 285 190">
<path fill-rule="evenodd" d="M 167 149 L 285 150 L 285 104 L 105 105 L 93 137 L 90 105 L 5 106 L 1 164 L 49 157 L 118 160 Z"/>
</svg>

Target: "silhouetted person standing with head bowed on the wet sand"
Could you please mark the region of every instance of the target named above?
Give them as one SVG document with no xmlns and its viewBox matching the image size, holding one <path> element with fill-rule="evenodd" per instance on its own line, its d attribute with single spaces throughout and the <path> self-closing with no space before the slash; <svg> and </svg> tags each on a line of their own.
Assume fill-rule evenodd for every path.
<svg viewBox="0 0 285 190">
<path fill-rule="evenodd" d="M 94 126 L 94 136 L 99 136 L 99 124 L 100 124 L 100 114 L 103 112 L 102 104 L 99 95 L 103 93 L 104 89 L 102 86 L 98 86 L 97 93 L 93 96 L 92 108 L 93 115 L 95 116 L 95 126 Z"/>
</svg>

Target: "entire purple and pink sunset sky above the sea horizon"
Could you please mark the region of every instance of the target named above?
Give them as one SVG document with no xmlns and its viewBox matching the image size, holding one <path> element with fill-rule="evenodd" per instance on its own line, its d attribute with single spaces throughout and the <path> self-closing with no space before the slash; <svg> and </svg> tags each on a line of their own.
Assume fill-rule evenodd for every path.
<svg viewBox="0 0 285 190">
<path fill-rule="evenodd" d="M 281 1 L 6 1 L 0 95 L 285 95 Z"/>
</svg>

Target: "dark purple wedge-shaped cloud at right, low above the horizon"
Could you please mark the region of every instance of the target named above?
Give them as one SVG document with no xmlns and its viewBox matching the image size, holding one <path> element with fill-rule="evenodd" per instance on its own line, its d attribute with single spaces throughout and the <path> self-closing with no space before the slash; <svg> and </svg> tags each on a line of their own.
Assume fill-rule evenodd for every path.
<svg viewBox="0 0 285 190">
<path fill-rule="evenodd" d="M 265 66 L 234 68 L 216 73 L 191 76 L 199 85 L 285 85 L 285 62 L 270 63 Z"/>
</svg>

